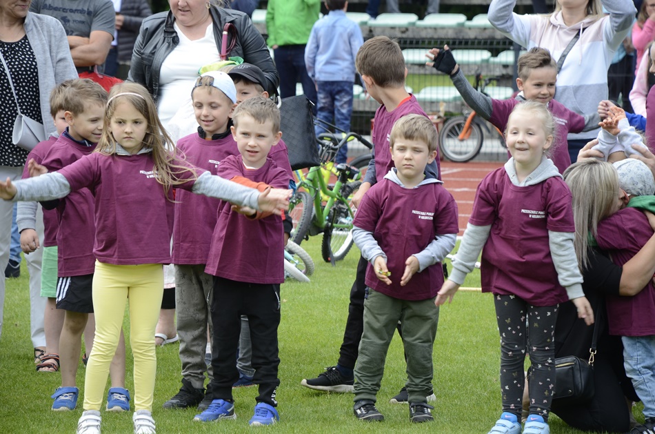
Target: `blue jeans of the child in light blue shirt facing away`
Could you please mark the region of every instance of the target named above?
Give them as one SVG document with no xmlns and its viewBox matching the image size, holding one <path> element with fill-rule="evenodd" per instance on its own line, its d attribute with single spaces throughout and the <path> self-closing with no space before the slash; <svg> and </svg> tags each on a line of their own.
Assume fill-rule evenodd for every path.
<svg viewBox="0 0 655 434">
<path fill-rule="evenodd" d="M 352 116 L 352 82 L 350 81 L 316 81 L 319 88 L 319 102 L 316 106 L 316 117 L 321 121 L 336 125 L 345 132 L 350 131 Z M 322 125 L 316 125 L 316 135 L 325 132 Z M 337 135 L 339 132 L 337 132 Z M 336 155 L 336 164 L 345 163 L 348 156 L 348 146 L 344 144 Z"/>
</svg>

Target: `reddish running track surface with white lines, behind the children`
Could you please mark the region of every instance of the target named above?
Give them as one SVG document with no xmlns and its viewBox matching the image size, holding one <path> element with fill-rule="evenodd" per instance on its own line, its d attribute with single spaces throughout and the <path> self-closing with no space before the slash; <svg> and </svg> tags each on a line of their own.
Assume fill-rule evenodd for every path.
<svg viewBox="0 0 655 434">
<path fill-rule="evenodd" d="M 466 224 L 473 209 L 475 190 L 487 173 L 502 167 L 502 161 L 468 163 L 452 163 L 441 161 L 441 179 L 443 186 L 457 202 L 459 210 L 459 234 L 464 233 Z"/>
</svg>

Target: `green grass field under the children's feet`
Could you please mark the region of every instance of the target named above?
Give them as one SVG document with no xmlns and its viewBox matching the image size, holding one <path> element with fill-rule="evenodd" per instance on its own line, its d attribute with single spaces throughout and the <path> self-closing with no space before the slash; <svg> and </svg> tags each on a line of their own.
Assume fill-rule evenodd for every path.
<svg viewBox="0 0 655 434">
<path fill-rule="evenodd" d="M 389 404 L 405 382 L 405 362 L 396 336 L 387 355 L 385 377 L 378 395 L 378 407 L 385 422 L 368 424 L 352 415 L 352 395 L 326 394 L 300 385 L 315 377 L 325 366 L 336 363 L 347 315 L 348 295 L 354 280 L 359 251 L 354 247 L 336 267 L 321 260 L 321 237 L 303 242 L 316 262 L 310 284 L 282 286 L 282 322 L 279 329 L 280 379 L 278 389 L 281 421 L 266 429 L 279 433 L 438 432 L 486 433 L 501 412 L 498 390 L 498 332 L 490 295 L 461 291 L 453 304 L 441 309 L 434 345 L 434 391 L 437 402 L 431 424 L 414 425 L 406 405 Z M 0 433 L 73 433 L 81 414 L 78 409 L 50 411 L 50 395 L 60 385 L 58 373 L 37 373 L 32 364 L 29 335 L 28 277 L 24 266 L 20 279 L 8 280 L 4 305 L 3 335 L 0 340 Z M 474 273 L 464 286 L 479 286 Z M 129 323 L 125 319 L 126 338 Z M 129 346 L 129 344 L 128 344 Z M 255 388 L 234 391 L 236 420 L 201 424 L 193 422 L 194 409 L 164 411 L 161 404 L 180 386 L 178 344 L 157 349 L 157 386 L 153 416 L 162 433 L 250 432 Z M 128 348 L 126 386 L 134 393 L 132 359 Z M 80 362 L 78 385 L 83 391 L 85 368 Z M 102 412 L 102 432 L 132 433 L 131 413 Z M 567 427 L 556 416 L 550 420 L 554 434 L 580 431 Z"/>
</svg>

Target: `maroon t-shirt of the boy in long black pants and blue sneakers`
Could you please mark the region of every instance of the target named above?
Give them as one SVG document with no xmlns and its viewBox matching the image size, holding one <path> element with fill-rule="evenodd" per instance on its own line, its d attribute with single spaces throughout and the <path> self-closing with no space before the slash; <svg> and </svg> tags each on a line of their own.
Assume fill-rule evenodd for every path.
<svg viewBox="0 0 655 434">
<path fill-rule="evenodd" d="M 272 159 L 259 169 L 246 169 L 241 155 L 221 161 L 218 175 L 225 179 L 245 177 L 275 188 L 288 188 L 285 170 Z M 232 211 L 232 204 L 221 201 L 205 273 L 236 282 L 281 284 L 284 282 L 284 231 L 282 218 L 269 215 L 252 220 Z"/>
</svg>

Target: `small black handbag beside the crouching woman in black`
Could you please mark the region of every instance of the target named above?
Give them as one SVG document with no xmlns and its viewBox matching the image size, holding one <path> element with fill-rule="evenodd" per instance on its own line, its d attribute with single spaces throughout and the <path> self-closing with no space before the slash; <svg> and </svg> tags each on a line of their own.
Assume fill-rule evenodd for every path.
<svg viewBox="0 0 655 434">
<path fill-rule="evenodd" d="M 555 391 L 553 402 L 557 404 L 584 404 L 596 393 L 594 387 L 594 357 L 598 340 L 598 320 L 602 314 L 602 305 L 596 310 L 598 317 L 594 324 L 592 347 L 589 348 L 589 360 L 568 356 L 555 359 Z"/>
</svg>

